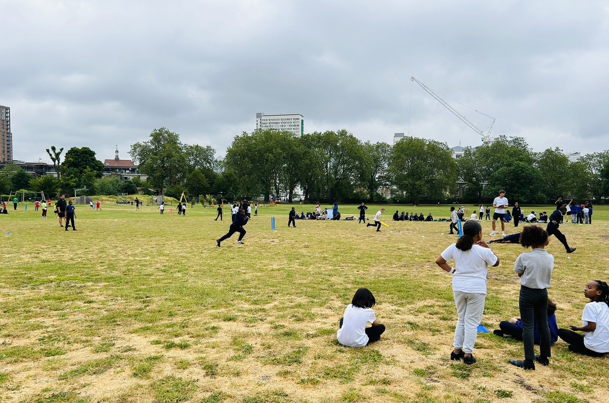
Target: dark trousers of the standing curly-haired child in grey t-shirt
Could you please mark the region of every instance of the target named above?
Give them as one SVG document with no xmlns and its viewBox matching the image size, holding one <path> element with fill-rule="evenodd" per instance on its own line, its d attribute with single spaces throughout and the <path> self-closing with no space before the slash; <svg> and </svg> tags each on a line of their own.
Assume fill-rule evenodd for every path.
<svg viewBox="0 0 609 403">
<path fill-rule="evenodd" d="M 524 360 L 529 363 L 535 361 L 535 320 L 539 329 L 540 357 L 551 357 L 550 328 L 547 326 L 547 289 L 520 286 L 518 307 L 520 321 L 523 323 Z"/>
</svg>

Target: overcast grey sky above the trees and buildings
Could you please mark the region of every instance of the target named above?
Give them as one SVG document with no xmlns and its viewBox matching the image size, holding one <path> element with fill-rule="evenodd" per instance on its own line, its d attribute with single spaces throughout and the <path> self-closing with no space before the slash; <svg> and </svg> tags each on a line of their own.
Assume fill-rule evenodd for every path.
<svg viewBox="0 0 609 403">
<path fill-rule="evenodd" d="M 50 163 L 55 145 L 103 161 L 117 144 L 129 158 L 158 127 L 221 157 L 256 112 L 303 114 L 305 133 L 481 144 L 411 76 L 535 150 L 609 149 L 604 1 L 0 0 L 0 10 L 15 159 Z"/>
</svg>

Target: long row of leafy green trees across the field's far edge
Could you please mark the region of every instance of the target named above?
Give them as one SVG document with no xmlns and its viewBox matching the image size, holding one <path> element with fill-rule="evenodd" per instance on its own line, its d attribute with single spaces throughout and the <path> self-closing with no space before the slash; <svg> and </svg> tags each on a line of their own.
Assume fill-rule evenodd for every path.
<svg viewBox="0 0 609 403">
<path fill-rule="evenodd" d="M 448 145 L 404 137 L 395 145 L 362 142 L 346 130 L 295 137 L 276 130 L 242 133 L 225 158 L 212 147 L 184 144 L 167 128 L 131 146 L 133 162 L 146 181 L 104 176 L 104 164 L 87 147 L 46 150 L 57 178 L 33 178 L 16 166 L 0 170 L 0 194 L 29 189 L 55 195 L 86 187 L 86 194 L 166 194 L 227 200 L 285 195 L 294 201 L 372 201 L 395 203 L 478 203 L 505 189 L 511 200 L 546 203 L 558 197 L 603 200 L 609 197 L 609 152 L 577 161 L 558 148 L 533 152 L 524 138 L 501 136 L 492 144 L 466 147 L 459 159 Z M 457 187 L 462 188 L 457 197 Z M 85 192 L 80 192 L 85 193 Z"/>
</svg>

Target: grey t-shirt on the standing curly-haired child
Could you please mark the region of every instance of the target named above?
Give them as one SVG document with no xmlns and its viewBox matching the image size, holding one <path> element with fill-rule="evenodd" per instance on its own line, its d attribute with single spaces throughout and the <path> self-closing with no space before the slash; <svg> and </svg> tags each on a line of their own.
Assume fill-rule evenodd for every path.
<svg viewBox="0 0 609 403">
<path fill-rule="evenodd" d="M 514 264 L 515 273 L 523 273 L 520 285 L 543 290 L 550 286 L 554 270 L 554 256 L 545 249 L 533 249 L 518 256 Z"/>
</svg>

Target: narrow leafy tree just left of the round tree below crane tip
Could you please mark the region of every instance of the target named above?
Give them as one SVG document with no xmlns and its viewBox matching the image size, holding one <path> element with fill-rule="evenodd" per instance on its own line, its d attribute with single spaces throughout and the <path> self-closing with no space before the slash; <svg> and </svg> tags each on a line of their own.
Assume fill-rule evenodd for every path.
<svg viewBox="0 0 609 403">
<path fill-rule="evenodd" d="M 389 167 L 391 145 L 386 142 L 372 144 L 367 141 L 363 147 L 362 181 L 366 184 L 369 200 L 373 202 L 378 188 L 389 184 L 387 169 Z"/>
</svg>

